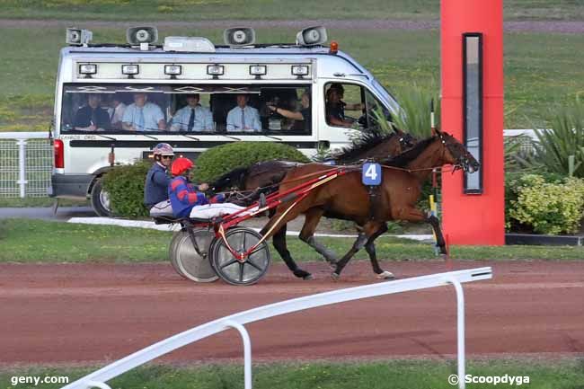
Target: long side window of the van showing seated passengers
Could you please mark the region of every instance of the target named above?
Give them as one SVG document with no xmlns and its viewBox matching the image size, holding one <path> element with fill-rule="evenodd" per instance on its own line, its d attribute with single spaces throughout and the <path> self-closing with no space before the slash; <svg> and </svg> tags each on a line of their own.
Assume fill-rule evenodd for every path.
<svg viewBox="0 0 584 389">
<path fill-rule="evenodd" d="M 312 134 L 310 84 L 65 84 L 62 133 Z"/>
</svg>

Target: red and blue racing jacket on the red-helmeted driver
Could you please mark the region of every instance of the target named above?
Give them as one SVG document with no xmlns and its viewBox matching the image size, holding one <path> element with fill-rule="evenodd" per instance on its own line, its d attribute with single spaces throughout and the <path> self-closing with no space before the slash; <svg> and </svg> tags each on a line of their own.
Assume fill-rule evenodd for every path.
<svg viewBox="0 0 584 389">
<path fill-rule="evenodd" d="M 225 201 L 225 196 L 222 194 L 208 200 L 205 193 L 196 190 L 192 182 L 182 176 L 171 181 L 168 186 L 168 197 L 173 206 L 174 217 L 189 217 L 190 209 L 195 206 Z"/>
</svg>

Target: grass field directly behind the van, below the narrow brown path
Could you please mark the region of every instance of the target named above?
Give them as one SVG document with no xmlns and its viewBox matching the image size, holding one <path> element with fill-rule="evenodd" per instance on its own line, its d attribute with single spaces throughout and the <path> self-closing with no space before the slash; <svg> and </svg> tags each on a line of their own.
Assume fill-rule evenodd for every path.
<svg viewBox="0 0 584 389">
<path fill-rule="evenodd" d="M 54 2 L 58 3 L 58 2 Z M 83 3 L 83 2 L 82 2 Z M 124 40 L 124 30 L 96 29 L 94 41 Z M 220 29 L 161 29 L 161 36 L 199 35 L 222 42 Z M 296 31 L 260 29 L 259 42 L 292 41 Z M 438 31 L 329 31 L 342 50 L 356 57 L 382 84 L 400 91 L 418 84 L 439 86 Z M 0 28 L 7 48 L 0 74 L 0 131 L 46 131 L 52 117 L 62 28 Z M 506 128 L 544 125 L 546 112 L 573 102 L 584 91 L 580 64 L 584 37 L 576 34 L 513 33 L 505 36 Z M 543 49 L 545 48 L 545 49 Z"/>
</svg>

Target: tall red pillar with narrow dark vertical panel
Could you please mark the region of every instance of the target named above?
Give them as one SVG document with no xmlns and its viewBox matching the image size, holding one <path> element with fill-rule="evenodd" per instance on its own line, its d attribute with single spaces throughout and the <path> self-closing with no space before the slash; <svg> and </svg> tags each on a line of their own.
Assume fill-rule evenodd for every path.
<svg viewBox="0 0 584 389">
<path fill-rule="evenodd" d="M 505 243 L 502 0 L 442 0 L 441 129 L 463 140 L 463 33 L 482 33 L 481 195 L 464 193 L 464 175 L 442 177 L 442 226 L 448 243 Z"/>
</svg>

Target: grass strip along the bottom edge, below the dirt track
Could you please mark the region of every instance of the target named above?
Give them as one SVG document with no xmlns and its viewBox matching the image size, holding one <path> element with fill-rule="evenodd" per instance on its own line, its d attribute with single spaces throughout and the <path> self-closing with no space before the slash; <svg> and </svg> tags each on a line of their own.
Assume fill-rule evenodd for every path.
<svg viewBox="0 0 584 389">
<path fill-rule="evenodd" d="M 243 364 L 243 363 L 242 363 Z M 73 382 L 94 369 L 36 368 L 5 370 L 0 373 L 0 387 L 34 388 L 34 385 L 11 385 L 13 376 L 68 376 Z M 579 359 L 556 361 L 486 360 L 470 361 L 467 375 L 518 377 L 530 389 L 576 389 L 584 382 Z M 354 363 L 276 363 L 252 367 L 256 389 L 449 389 L 448 376 L 456 374 L 454 361 L 387 360 Z M 520 377 L 520 378 L 519 378 Z M 528 377 L 528 378 L 524 378 Z M 527 383 L 528 379 L 528 383 Z M 515 381 L 518 383 L 518 381 Z M 139 367 L 108 382 L 112 388 L 217 389 L 243 388 L 243 367 L 238 364 L 203 365 L 200 367 Z M 42 385 L 43 389 L 62 385 Z M 470 384 L 471 389 L 509 387 L 509 384 Z M 512 387 L 516 387 L 513 385 Z"/>
</svg>

